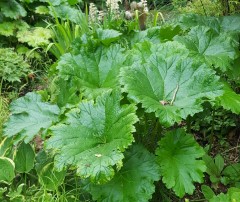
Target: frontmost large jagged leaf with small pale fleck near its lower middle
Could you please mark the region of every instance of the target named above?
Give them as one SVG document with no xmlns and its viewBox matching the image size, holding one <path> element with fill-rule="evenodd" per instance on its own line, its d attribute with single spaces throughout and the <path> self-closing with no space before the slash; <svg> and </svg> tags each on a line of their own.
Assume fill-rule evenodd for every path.
<svg viewBox="0 0 240 202">
<path fill-rule="evenodd" d="M 55 165 L 77 167 L 83 178 L 95 183 L 109 181 L 113 166 L 122 165 L 123 151 L 134 141 L 133 124 L 138 120 L 134 105 L 120 106 L 120 93 L 104 93 L 96 103 L 79 104 L 80 113 L 72 110 L 67 123 L 51 128 L 52 137 L 47 148 L 57 149 Z"/>
</svg>

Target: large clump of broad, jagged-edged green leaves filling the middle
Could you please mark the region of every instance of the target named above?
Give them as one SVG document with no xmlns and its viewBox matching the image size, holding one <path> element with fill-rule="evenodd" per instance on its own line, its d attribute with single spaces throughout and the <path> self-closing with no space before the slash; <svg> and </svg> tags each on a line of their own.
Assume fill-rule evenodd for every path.
<svg viewBox="0 0 240 202">
<path fill-rule="evenodd" d="M 41 92 L 43 99 L 28 93 L 11 104 L 5 136 L 28 143 L 41 133 L 44 150 L 53 152 L 52 160 L 37 171 L 43 186 L 58 186 L 65 170 L 74 170 L 94 200 L 145 202 L 156 181 L 180 198 L 193 193 L 195 182 L 203 182 L 203 148 L 193 135 L 175 128 L 201 112 L 204 103 L 224 104 L 238 113 L 237 101 L 231 99 L 231 108 L 223 99 L 234 91 L 224 88 L 212 68 L 231 69 L 238 57 L 237 43 L 230 43 L 229 35 L 221 44 L 225 33 L 204 26 L 187 34 L 167 30 L 172 30 L 171 37 L 160 37 L 166 32 L 161 28 L 134 34 L 135 45 L 129 37 L 133 46 L 125 49 L 116 31 L 98 29 L 82 35 L 81 45 L 73 45 L 58 61 L 54 95 Z M 229 55 L 222 57 L 224 53 Z M 135 138 L 143 134 L 136 127 L 139 117 L 149 113 L 150 121 L 161 128 L 154 129 L 159 135 L 150 145 L 157 147 L 155 155 Z M 148 120 L 145 124 L 151 130 Z M 151 135 L 147 133 L 141 143 Z M 48 168 L 55 169 L 55 177 L 45 171 Z"/>
</svg>

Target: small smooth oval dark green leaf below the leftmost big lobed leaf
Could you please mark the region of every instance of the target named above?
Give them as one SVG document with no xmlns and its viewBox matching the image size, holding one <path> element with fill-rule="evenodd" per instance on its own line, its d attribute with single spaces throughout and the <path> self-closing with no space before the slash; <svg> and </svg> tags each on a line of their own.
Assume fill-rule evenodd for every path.
<svg viewBox="0 0 240 202">
<path fill-rule="evenodd" d="M 34 167 L 35 152 L 30 144 L 24 142 L 17 148 L 14 155 L 16 171 L 27 173 Z"/>
</svg>

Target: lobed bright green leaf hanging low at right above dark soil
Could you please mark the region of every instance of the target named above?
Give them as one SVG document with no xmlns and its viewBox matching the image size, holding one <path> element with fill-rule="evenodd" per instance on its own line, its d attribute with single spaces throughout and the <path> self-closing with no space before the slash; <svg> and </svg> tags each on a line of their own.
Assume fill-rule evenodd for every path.
<svg viewBox="0 0 240 202">
<path fill-rule="evenodd" d="M 204 150 L 184 130 L 168 132 L 159 142 L 156 154 L 163 182 L 179 197 L 193 193 L 193 182 L 203 182 L 206 166 L 198 158 L 204 155 Z"/>
</svg>

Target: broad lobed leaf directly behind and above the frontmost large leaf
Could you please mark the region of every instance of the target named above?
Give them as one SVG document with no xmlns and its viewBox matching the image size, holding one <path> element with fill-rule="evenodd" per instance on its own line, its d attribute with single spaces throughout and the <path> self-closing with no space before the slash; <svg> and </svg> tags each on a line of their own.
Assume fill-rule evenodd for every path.
<svg viewBox="0 0 240 202">
<path fill-rule="evenodd" d="M 75 79 L 88 98 L 96 98 L 106 90 L 120 87 L 119 71 L 125 61 L 120 45 L 99 47 L 96 52 L 82 50 L 78 55 L 67 53 L 58 64 L 64 79 Z"/>
</svg>

